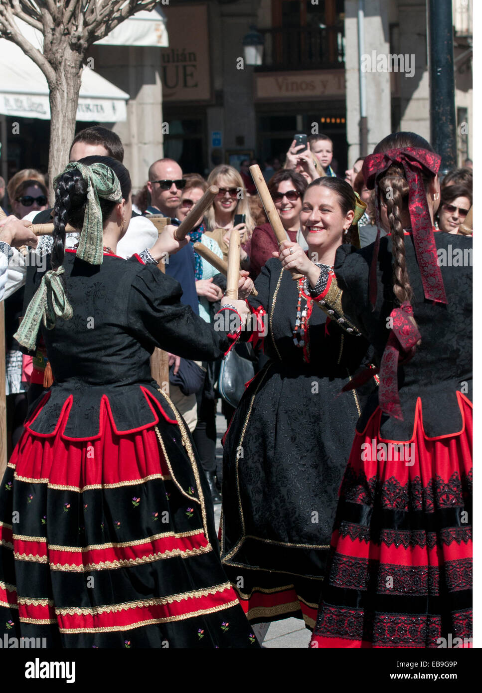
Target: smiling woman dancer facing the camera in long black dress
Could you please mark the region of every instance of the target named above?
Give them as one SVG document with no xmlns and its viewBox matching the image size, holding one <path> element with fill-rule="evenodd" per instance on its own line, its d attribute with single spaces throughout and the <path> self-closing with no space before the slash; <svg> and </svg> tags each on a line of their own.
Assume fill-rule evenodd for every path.
<svg viewBox="0 0 482 693">
<path fill-rule="evenodd" d="M 350 247 L 357 234 L 356 198 L 340 179 L 317 183 L 303 201 L 303 235 L 310 256 L 332 264 L 337 247 Z M 285 247 L 303 253 L 294 242 Z M 293 281 L 278 258 L 255 284 L 254 336 L 265 333 L 270 360 L 224 441 L 222 561 L 251 623 L 294 616 L 313 629 L 350 430 L 362 407 L 355 391 L 338 395 L 368 344 L 314 307 L 310 286 Z"/>
</svg>

